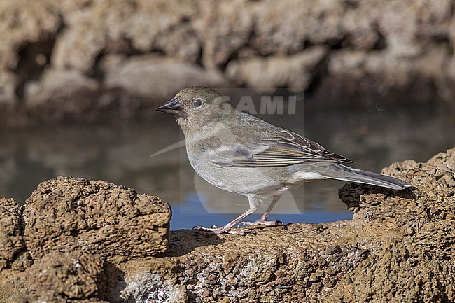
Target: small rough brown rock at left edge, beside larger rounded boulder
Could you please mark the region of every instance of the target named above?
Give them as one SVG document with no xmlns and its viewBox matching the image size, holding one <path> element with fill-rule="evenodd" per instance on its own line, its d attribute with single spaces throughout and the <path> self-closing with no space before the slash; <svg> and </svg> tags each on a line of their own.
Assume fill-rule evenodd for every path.
<svg viewBox="0 0 455 303">
<path fill-rule="evenodd" d="M 23 248 L 20 205 L 14 199 L 0 198 L 0 270 L 10 267 Z"/>
</svg>

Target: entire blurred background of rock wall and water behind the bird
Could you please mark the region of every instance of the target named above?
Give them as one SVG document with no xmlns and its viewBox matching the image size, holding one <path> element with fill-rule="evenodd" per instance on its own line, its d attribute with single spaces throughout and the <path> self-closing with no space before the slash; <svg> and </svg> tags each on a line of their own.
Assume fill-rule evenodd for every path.
<svg viewBox="0 0 455 303">
<path fill-rule="evenodd" d="M 234 105 L 251 97 L 258 112 L 261 97 L 281 96 L 283 114 L 260 118 L 354 167 L 424 162 L 455 146 L 454 10 L 454 0 L 1 1 L 0 197 L 23 203 L 41 181 L 79 176 L 162 197 L 174 230 L 228 223 L 246 198 L 199 178 L 178 125 L 153 111 L 190 85 Z M 271 218 L 351 218 L 343 184 L 291 190 Z"/>
</svg>

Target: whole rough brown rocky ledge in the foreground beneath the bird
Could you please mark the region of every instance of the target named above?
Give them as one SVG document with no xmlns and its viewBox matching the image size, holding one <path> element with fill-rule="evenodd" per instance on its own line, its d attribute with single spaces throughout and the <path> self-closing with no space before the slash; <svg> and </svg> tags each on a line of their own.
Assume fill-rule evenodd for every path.
<svg viewBox="0 0 455 303">
<path fill-rule="evenodd" d="M 453 302 L 455 148 L 345 185 L 352 221 L 169 232 L 158 197 L 56 178 L 0 200 L 1 302 Z"/>
</svg>

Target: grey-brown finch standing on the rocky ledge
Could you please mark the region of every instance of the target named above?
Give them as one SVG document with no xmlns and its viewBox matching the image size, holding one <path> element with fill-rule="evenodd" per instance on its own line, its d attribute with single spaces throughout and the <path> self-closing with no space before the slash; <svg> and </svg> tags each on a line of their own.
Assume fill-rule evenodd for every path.
<svg viewBox="0 0 455 303">
<path fill-rule="evenodd" d="M 175 116 L 186 141 L 191 166 L 217 188 L 243 195 L 249 209 L 224 226 L 197 230 L 215 234 L 245 234 L 237 224 L 281 225 L 267 220 L 281 194 L 306 181 L 336 179 L 403 190 L 411 184 L 398 178 L 347 166 L 348 158 L 288 129 L 237 111 L 220 92 L 202 86 L 186 87 L 155 108 Z M 255 222 L 244 220 L 273 197 L 267 211 Z"/>
</svg>

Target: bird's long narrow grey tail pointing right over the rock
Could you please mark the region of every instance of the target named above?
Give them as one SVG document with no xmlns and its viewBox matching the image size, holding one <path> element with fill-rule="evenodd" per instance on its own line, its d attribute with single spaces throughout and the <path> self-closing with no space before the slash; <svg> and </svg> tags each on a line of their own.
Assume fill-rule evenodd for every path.
<svg viewBox="0 0 455 303">
<path fill-rule="evenodd" d="M 383 188 L 391 188 L 393 190 L 403 190 L 405 188 L 412 187 L 411 184 L 398 178 L 376 174 L 372 171 L 353 169 L 342 164 L 330 164 L 330 174 L 325 174 L 325 178 L 355 183 L 365 183 L 381 186 Z"/>
</svg>

